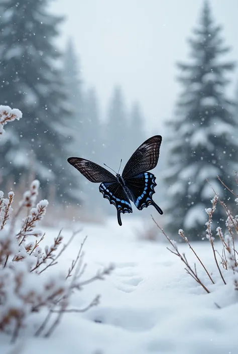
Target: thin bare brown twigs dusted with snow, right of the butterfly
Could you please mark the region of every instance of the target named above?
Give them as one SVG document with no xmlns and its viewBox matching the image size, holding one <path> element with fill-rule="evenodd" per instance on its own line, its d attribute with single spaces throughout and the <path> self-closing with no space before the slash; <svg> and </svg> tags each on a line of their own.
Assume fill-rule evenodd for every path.
<svg viewBox="0 0 238 354">
<path fill-rule="evenodd" d="M 229 189 L 218 177 L 218 180 L 221 182 L 224 188 L 226 188 L 229 192 L 233 194 L 234 201 L 236 202 L 236 205 L 238 205 L 238 195 L 236 195 L 231 189 Z M 238 181 L 236 179 L 236 182 L 238 184 Z M 211 199 L 211 207 L 206 208 L 205 211 L 208 215 L 208 220 L 205 223 L 206 227 L 206 239 L 210 242 L 211 245 L 211 250 L 212 254 L 211 257 L 214 258 L 214 262 L 218 271 L 218 274 L 224 283 L 226 285 L 227 280 L 226 276 L 227 273 L 232 273 L 232 277 L 228 277 L 228 279 L 232 279 L 234 289 L 238 291 L 238 248 L 235 245 L 237 242 L 237 235 L 238 235 L 238 212 L 237 214 L 235 212 L 231 212 L 228 208 L 227 205 L 220 200 L 219 195 L 214 191 L 214 198 Z M 214 244 L 214 236 L 212 234 L 212 217 L 213 213 L 216 210 L 216 204 L 220 203 L 220 205 L 223 207 L 224 214 L 226 214 L 226 218 L 220 219 L 220 222 L 223 222 L 223 225 L 218 225 L 216 228 L 216 235 L 219 237 L 221 241 L 221 247 L 222 247 L 222 252 L 219 253 L 215 249 L 215 244 Z M 153 218 L 153 217 L 152 217 Z M 153 219 L 154 220 L 154 219 Z M 156 221 L 154 220 L 156 223 Z M 157 224 L 157 223 L 156 223 Z M 170 245 L 172 246 L 172 250 L 168 249 L 170 252 L 178 256 L 181 261 L 185 264 L 185 270 L 188 274 L 190 274 L 197 283 L 199 283 L 204 290 L 209 293 L 208 287 L 204 285 L 204 283 L 201 281 L 201 279 L 198 277 L 197 270 L 196 270 L 196 265 L 194 267 L 191 267 L 186 259 L 185 254 L 181 254 L 178 250 L 178 246 L 176 242 L 173 240 L 170 240 L 168 235 L 164 232 L 164 230 L 157 224 L 157 226 L 161 229 L 167 240 L 169 241 Z M 223 227 L 222 227 L 223 226 Z M 198 262 L 206 272 L 210 282 L 214 284 L 214 280 L 212 279 L 211 272 L 207 270 L 207 268 L 204 266 L 203 262 L 201 261 L 201 258 L 197 255 L 191 244 L 189 243 L 187 237 L 184 234 L 184 231 L 182 229 L 179 229 L 178 231 L 180 237 L 187 243 L 189 246 L 190 250 L 193 252 L 195 257 L 197 258 Z M 220 244 L 218 244 L 220 246 Z"/>
</svg>

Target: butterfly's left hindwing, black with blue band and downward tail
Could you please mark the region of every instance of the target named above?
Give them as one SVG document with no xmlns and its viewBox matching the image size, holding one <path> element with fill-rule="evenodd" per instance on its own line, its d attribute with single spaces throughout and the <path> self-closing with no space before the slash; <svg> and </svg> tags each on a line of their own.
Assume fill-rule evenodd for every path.
<svg viewBox="0 0 238 354">
<path fill-rule="evenodd" d="M 117 221 L 122 226 L 121 213 L 131 213 L 132 206 L 130 200 L 118 182 L 103 182 L 99 186 L 99 191 L 103 198 L 107 198 L 110 204 L 115 205 L 117 210 Z"/>
</svg>

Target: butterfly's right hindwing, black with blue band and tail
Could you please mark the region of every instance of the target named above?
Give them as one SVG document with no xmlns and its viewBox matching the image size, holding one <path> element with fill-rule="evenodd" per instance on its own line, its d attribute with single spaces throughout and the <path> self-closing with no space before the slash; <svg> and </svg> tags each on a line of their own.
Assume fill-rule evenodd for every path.
<svg viewBox="0 0 238 354">
<path fill-rule="evenodd" d="M 152 204 L 162 215 L 163 211 L 152 199 L 152 195 L 155 193 L 154 188 L 157 185 L 155 180 L 156 177 L 153 173 L 143 172 L 136 176 L 126 178 L 125 183 L 130 190 L 134 204 L 139 210 Z"/>
</svg>

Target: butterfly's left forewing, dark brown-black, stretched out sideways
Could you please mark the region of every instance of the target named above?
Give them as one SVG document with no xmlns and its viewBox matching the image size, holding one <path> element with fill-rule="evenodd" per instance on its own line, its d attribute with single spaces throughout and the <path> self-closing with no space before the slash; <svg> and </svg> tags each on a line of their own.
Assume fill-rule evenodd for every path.
<svg viewBox="0 0 238 354">
<path fill-rule="evenodd" d="M 105 168 L 92 161 L 81 159 L 80 157 L 69 157 L 68 162 L 82 173 L 90 182 L 114 182 L 116 177 Z"/>
</svg>

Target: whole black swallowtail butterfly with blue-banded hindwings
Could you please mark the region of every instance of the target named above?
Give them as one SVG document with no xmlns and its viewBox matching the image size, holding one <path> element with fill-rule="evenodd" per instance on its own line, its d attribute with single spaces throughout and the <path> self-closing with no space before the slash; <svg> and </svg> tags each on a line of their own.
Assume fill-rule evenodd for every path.
<svg viewBox="0 0 238 354">
<path fill-rule="evenodd" d="M 162 137 L 155 135 L 139 146 L 126 164 L 122 176 L 118 173 L 114 176 L 94 162 L 79 157 L 69 157 L 68 162 L 89 181 L 102 182 L 99 191 L 103 198 L 107 198 L 110 204 L 115 205 L 118 224 L 122 225 L 121 212 L 124 214 L 132 212 L 130 200 L 139 210 L 152 204 L 161 215 L 163 214 L 161 208 L 152 200 L 157 185 L 156 177 L 147 172 L 157 165 L 161 142 Z"/>
</svg>

